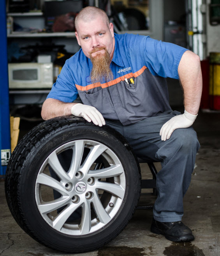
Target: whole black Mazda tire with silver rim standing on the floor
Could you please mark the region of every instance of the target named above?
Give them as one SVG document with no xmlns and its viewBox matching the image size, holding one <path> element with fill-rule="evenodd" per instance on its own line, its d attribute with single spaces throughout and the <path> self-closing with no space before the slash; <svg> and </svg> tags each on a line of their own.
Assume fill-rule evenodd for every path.
<svg viewBox="0 0 220 256">
<path fill-rule="evenodd" d="M 62 252 L 92 251 L 116 237 L 140 192 L 139 163 L 123 136 L 73 116 L 55 117 L 28 132 L 5 174 L 16 222 Z"/>
</svg>

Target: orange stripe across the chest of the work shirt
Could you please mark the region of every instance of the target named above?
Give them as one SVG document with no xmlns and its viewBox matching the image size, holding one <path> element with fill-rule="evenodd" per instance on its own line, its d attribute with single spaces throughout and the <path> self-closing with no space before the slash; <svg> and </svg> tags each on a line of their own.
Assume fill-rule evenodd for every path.
<svg viewBox="0 0 220 256">
<path fill-rule="evenodd" d="M 125 77 L 126 78 L 137 77 L 137 76 L 141 75 L 146 68 L 147 68 L 146 66 L 143 66 L 143 68 L 141 68 L 140 70 L 138 70 L 135 73 L 128 73 L 126 75 L 120 76 L 120 77 L 118 77 L 118 78 L 116 78 L 116 79 L 114 79 L 114 80 L 112 80 L 110 82 L 104 83 L 104 84 L 101 84 L 100 82 L 99 83 L 95 83 L 95 84 L 89 84 L 89 85 L 86 85 L 86 86 L 81 86 L 81 85 L 77 85 L 76 84 L 76 88 L 79 91 L 88 91 L 88 90 L 96 88 L 96 87 L 106 88 L 106 87 L 109 87 L 111 85 L 118 84 L 121 81 L 124 81 Z"/>
</svg>

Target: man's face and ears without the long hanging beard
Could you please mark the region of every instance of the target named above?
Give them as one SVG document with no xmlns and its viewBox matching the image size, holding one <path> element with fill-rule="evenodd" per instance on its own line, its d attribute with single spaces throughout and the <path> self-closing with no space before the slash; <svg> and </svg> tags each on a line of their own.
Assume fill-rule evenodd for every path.
<svg viewBox="0 0 220 256">
<path fill-rule="evenodd" d="M 108 28 L 106 22 L 101 17 L 97 17 L 89 22 L 79 20 L 76 38 L 86 57 L 90 58 L 90 54 L 91 57 L 104 54 L 106 49 L 112 59 L 114 53 L 112 23 L 109 24 Z"/>
</svg>

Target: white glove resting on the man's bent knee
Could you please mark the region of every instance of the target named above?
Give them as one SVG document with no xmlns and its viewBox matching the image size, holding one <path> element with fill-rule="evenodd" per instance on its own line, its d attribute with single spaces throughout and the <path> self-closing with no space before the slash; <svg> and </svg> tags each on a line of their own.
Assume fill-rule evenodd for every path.
<svg viewBox="0 0 220 256">
<path fill-rule="evenodd" d="M 178 128 L 190 127 L 194 123 L 197 115 L 192 115 L 185 110 L 184 114 L 172 117 L 160 129 L 161 140 L 168 140 L 172 132 Z"/>
</svg>

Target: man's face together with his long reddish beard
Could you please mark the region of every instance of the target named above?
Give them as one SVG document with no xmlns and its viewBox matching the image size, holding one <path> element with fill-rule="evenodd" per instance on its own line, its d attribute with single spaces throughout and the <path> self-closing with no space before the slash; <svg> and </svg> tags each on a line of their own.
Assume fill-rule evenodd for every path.
<svg viewBox="0 0 220 256">
<path fill-rule="evenodd" d="M 91 81 L 96 83 L 112 80 L 113 73 L 109 67 L 114 53 L 112 23 L 108 27 L 100 17 L 89 22 L 80 20 L 76 38 L 83 53 L 92 61 Z"/>
</svg>

